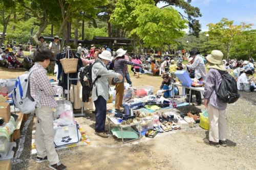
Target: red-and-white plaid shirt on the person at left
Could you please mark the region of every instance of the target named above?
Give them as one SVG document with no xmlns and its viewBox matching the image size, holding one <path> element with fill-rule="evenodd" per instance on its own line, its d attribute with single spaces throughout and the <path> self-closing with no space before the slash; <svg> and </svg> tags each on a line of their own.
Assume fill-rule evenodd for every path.
<svg viewBox="0 0 256 170">
<path fill-rule="evenodd" d="M 52 87 L 47 77 L 47 70 L 37 62 L 33 67 L 39 69 L 34 70 L 29 77 L 30 94 L 32 98 L 36 99 L 36 96 L 41 90 L 39 99 L 41 107 L 56 107 L 57 102 L 54 100 L 56 89 Z M 36 106 L 38 106 L 38 103 Z"/>
</svg>

